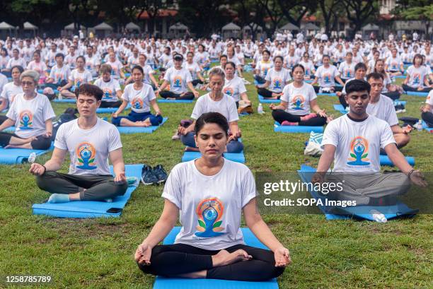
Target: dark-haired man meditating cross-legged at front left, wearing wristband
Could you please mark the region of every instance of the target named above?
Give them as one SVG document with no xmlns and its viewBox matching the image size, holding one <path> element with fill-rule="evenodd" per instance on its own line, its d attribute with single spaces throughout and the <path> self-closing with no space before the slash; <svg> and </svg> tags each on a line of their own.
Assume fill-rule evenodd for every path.
<svg viewBox="0 0 433 289">
<path fill-rule="evenodd" d="M 45 165 L 33 163 L 30 173 L 37 187 L 48 191 L 48 203 L 112 201 L 127 190 L 122 143 L 116 127 L 96 116 L 103 91 L 84 83 L 76 89 L 79 118 L 62 124 L 54 141 L 54 152 Z M 57 172 L 69 152 L 69 174 Z M 108 158 L 115 177 L 110 174 Z"/>
</svg>

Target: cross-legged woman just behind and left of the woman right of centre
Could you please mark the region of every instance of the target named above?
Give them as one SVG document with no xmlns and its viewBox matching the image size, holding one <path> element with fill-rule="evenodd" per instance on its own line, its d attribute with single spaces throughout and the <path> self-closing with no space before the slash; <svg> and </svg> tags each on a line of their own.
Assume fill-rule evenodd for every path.
<svg viewBox="0 0 433 289">
<path fill-rule="evenodd" d="M 274 67 L 267 71 L 265 84 L 255 85 L 258 94 L 263 98 L 279 99 L 284 86 L 291 81 L 290 72 L 283 67 L 283 63 L 283 57 L 274 57 Z"/>
</svg>

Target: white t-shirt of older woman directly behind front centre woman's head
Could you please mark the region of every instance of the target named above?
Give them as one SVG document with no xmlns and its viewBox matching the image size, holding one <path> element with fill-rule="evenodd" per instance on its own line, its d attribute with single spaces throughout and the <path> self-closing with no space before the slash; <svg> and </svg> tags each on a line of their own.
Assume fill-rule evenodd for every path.
<svg viewBox="0 0 433 289">
<path fill-rule="evenodd" d="M 209 93 L 200 96 L 195 102 L 194 110 L 192 110 L 191 118 L 198 119 L 200 115 L 206 112 L 219 112 L 226 117 L 227 122 L 236 122 L 239 120 L 236 102 L 229 95 L 223 95 L 219 101 L 214 101 L 210 98 Z"/>
</svg>

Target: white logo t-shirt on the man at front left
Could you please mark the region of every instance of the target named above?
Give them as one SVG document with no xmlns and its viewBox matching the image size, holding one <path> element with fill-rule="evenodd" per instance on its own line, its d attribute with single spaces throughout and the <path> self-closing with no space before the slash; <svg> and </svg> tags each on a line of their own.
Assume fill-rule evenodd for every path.
<svg viewBox="0 0 433 289">
<path fill-rule="evenodd" d="M 78 119 L 59 126 L 54 146 L 69 151 L 71 175 L 111 175 L 108 167 L 110 152 L 122 148 L 117 128 L 98 118 L 91 129 L 80 129 Z"/>
</svg>

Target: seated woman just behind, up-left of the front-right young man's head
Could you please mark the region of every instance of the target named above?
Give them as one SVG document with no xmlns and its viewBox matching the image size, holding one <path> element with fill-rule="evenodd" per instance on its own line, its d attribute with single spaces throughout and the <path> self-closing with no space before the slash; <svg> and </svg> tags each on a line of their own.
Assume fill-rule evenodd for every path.
<svg viewBox="0 0 433 289">
<path fill-rule="evenodd" d="M 314 86 L 316 93 L 323 90 L 323 93 L 333 93 L 335 91 L 341 91 L 342 87 L 345 85 L 340 78 L 340 72 L 338 72 L 337 67 L 330 64 L 330 58 L 328 55 L 323 56 L 323 65 L 320 66 L 316 71 L 316 77 L 311 85 L 319 83 L 320 86 Z M 341 86 L 336 86 L 335 81 L 340 83 Z"/>
</svg>

